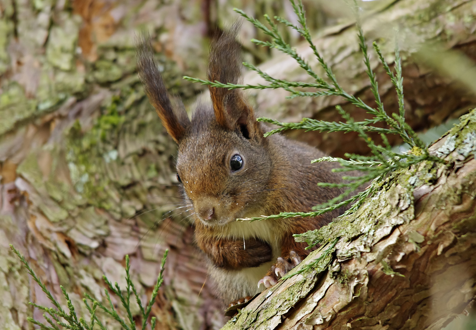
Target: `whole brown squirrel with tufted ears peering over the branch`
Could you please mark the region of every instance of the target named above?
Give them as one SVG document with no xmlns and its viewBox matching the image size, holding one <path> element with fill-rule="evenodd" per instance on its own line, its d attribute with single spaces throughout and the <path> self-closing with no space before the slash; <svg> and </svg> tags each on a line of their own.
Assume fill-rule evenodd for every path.
<svg viewBox="0 0 476 330">
<path fill-rule="evenodd" d="M 208 80 L 241 78 L 239 24 L 211 42 Z M 310 211 L 338 196 L 332 163 L 311 164 L 325 154 L 280 134 L 267 138 L 242 91 L 209 86 L 211 105 L 198 105 L 191 120 L 173 107 L 148 38 L 138 44 L 138 72 L 150 103 L 178 144 L 177 179 L 193 207 L 198 247 L 225 301 L 242 302 L 277 283 L 309 254 L 293 234 L 328 224 L 339 211 L 313 218 L 236 221 L 238 218 Z M 260 285 L 263 284 L 263 287 Z M 245 300 L 246 301 L 246 300 Z"/>
</svg>

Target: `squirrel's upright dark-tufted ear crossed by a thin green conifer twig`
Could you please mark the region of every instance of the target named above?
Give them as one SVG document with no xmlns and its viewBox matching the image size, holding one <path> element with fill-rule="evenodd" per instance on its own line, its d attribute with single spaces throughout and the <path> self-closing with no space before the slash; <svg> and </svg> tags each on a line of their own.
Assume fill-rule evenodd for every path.
<svg viewBox="0 0 476 330">
<path fill-rule="evenodd" d="M 229 31 L 221 32 L 212 41 L 208 61 L 209 81 L 236 84 L 241 79 L 241 45 L 236 39 L 240 28 L 241 21 L 237 21 Z M 240 91 L 212 86 L 208 89 L 215 118 L 221 126 L 234 129 L 237 124 L 247 124 L 248 119 L 255 119 L 253 109 Z"/>
</svg>

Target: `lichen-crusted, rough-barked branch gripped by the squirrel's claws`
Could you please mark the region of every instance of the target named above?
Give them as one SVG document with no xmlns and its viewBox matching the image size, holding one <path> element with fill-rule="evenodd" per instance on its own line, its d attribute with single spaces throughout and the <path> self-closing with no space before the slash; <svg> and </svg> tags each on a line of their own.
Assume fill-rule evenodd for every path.
<svg viewBox="0 0 476 330">
<path fill-rule="evenodd" d="M 464 117 L 430 148 L 456 164 L 392 175 L 355 214 L 316 233 L 340 237 L 316 269 L 262 292 L 223 329 L 441 329 L 463 313 L 476 297 L 476 111 Z"/>
</svg>

